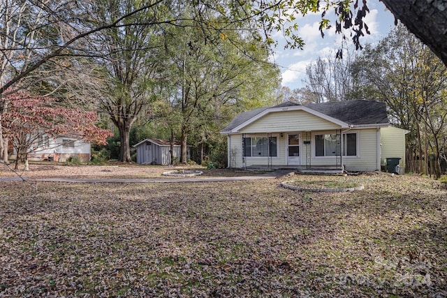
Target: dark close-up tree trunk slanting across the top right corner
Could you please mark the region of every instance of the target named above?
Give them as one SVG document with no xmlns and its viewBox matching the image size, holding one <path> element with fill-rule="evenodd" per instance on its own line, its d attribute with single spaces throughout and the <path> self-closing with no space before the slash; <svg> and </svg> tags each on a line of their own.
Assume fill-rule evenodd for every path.
<svg viewBox="0 0 447 298">
<path fill-rule="evenodd" d="M 411 33 L 447 66 L 447 6 L 444 0 L 381 0 Z"/>
</svg>

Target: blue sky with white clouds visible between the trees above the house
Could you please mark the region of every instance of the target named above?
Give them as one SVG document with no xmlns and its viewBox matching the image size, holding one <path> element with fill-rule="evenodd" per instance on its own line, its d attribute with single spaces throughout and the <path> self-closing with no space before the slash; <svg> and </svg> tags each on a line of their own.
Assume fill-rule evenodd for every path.
<svg viewBox="0 0 447 298">
<path fill-rule="evenodd" d="M 359 2 L 361 3 L 361 1 Z M 386 10 L 383 3 L 378 0 L 368 0 L 367 5 L 370 12 L 365 18 L 365 23 L 371 34 L 361 38 L 362 45 L 377 43 L 394 27 L 394 17 Z M 325 32 L 324 38 L 321 38 L 321 33 L 318 31 L 318 21 L 321 20 L 321 13 L 297 18 L 298 36 L 302 37 L 306 43 L 303 50 L 284 50 L 284 37 L 281 36 L 281 33 L 273 36 L 278 41 L 274 61 L 280 66 L 283 86 L 291 89 L 302 87 L 306 66 L 318 57 L 328 57 L 331 50 L 335 51 L 341 45 L 342 36 L 335 33 L 335 15 L 332 13 L 327 17 L 331 20 L 333 26 L 332 29 Z M 349 34 L 347 35 L 349 36 Z M 349 45 L 352 44 L 350 41 Z"/>
</svg>

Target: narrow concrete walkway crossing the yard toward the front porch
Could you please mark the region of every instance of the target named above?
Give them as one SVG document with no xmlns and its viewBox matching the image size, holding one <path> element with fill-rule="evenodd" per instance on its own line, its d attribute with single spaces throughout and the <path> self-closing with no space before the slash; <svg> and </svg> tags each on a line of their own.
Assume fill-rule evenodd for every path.
<svg viewBox="0 0 447 298">
<path fill-rule="evenodd" d="M 282 177 L 293 171 L 277 170 L 268 172 L 258 176 L 238 176 L 238 177 L 194 177 L 194 178 L 170 178 L 170 179 L 113 179 L 113 178 L 47 178 L 47 179 L 30 179 L 23 177 L 27 181 L 36 182 L 61 182 L 61 183 L 191 183 L 191 182 L 226 182 L 226 181 L 249 181 L 258 179 L 272 179 Z M 20 181 L 20 177 L 6 177 L 0 178 L 0 181 Z"/>
</svg>

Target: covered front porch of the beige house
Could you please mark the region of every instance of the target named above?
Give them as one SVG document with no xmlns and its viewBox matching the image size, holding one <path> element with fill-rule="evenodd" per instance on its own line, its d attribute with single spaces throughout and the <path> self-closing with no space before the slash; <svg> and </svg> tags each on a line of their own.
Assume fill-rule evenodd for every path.
<svg viewBox="0 0 447 298">
<path fill-rule="evenodd" d="M 342 130 L 242 133 L 228 138 L 228 164 L 244 169 L 339 173 L 344 170 L 343 144 L 346 146 L 346 135 Z"/>
</svg>

